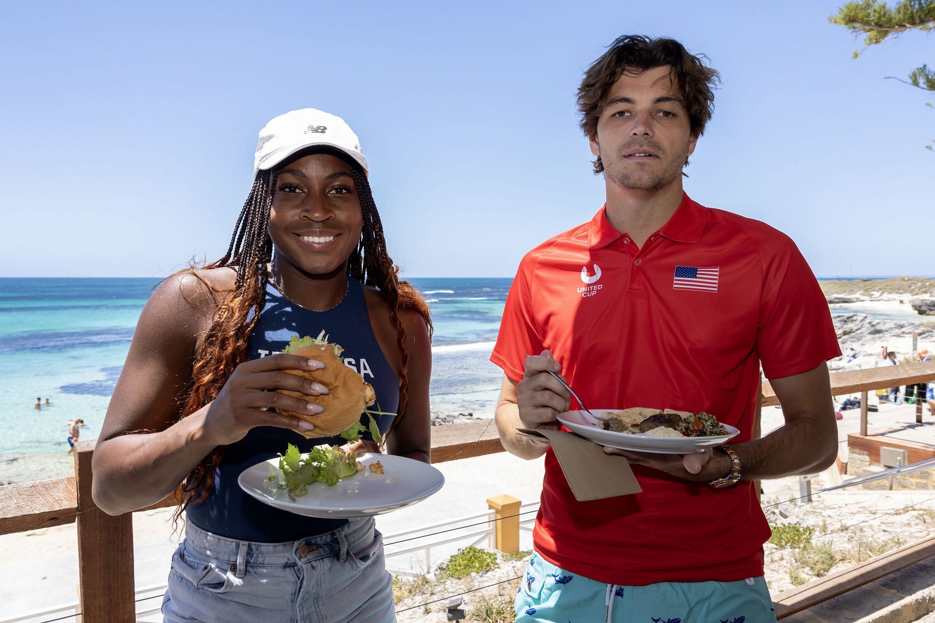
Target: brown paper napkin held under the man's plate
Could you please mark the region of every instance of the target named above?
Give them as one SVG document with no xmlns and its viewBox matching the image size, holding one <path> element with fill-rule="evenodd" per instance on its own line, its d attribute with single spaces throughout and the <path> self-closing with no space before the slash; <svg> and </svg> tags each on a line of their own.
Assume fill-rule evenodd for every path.
<svg viewBox="0 0 935 623">
<path fill-rule="evenodd" d="M 568 480 L 568 487 L 578 502 L 615 498 L 640 493 L 640 483 L 629 462 L 620 455 L 605 454 L 604 446 L 579 437 L 573 432 L 549 429 L 516 429 L 533 437 L 545 437 Z"/>
</svg>

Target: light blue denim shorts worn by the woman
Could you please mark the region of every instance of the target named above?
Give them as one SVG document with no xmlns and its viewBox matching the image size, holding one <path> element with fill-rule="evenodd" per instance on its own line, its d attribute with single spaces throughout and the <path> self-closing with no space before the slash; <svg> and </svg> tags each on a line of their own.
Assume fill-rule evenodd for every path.
<svg viewBox="0 0 935 623">
<path fill-rule="evenodd" d="M 288 543 L 226 539 L 187 521 L 162 609 L 168 623 L 390 623 L 395 610 L 373 517 Z"/>
</svg>

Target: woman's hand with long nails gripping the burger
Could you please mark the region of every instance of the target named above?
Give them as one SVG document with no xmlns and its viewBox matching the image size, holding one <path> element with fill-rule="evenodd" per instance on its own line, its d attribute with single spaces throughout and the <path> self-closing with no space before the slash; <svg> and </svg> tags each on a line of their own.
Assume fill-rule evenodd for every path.
<svg viewBox="0 0 935 623">
<path fill-rule="evenodd" d="M 218 397 L 208 405 L 205 437 L 215 446 L 226 446 L 243 439 L 256 426 L 277 426 L 300 433 L 313 430 L 314 425 L 306 420 L 283 416 L 273 409 L 316 415 L 324 411 L 321 405 L 270 390 L 287 389 L 309 397 L 326 394 L 328 389 L 321 383 L 285 372 L 322 368 L 321 361 L 284 353 L 237 365 Z"/>
</svg>

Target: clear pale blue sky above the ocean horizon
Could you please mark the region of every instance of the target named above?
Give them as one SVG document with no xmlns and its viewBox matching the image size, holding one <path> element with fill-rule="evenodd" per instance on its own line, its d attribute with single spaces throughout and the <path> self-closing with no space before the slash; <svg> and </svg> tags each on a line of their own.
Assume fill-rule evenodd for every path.
<svg viewBox="0 0 935 623">
<path fill-rule="evenodd" d="M 783 230 L 819 276 L 935 274 L 935 97 L 885 79 L 935 64 L 935 38 L 852 60 L 840 4 L 7 4 L 0 276 L 219 257 L 257 132 L 306 106 L 360 135 L 406 275 L 512 276 L 603 202 L 575 90 L 633 33 L 723 78 L 685 180 L 698 202 Z"/>
</svg>

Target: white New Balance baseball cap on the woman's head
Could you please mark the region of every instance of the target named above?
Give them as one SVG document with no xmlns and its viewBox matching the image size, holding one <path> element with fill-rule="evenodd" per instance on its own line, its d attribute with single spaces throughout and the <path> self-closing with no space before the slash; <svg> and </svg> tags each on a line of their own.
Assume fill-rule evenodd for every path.
<svg viewBox="0 0 935 623">
<path fill-rule="evenodd" d="M 296 151 L 316 145 L 340 149 L 367 172 L 367 159 L 351 126 L 323 110 L 302 108 L 270 120 L 260 130 L 253 156 L 253 179 L 261 169 L 271 169 Z"/>
</svg>

